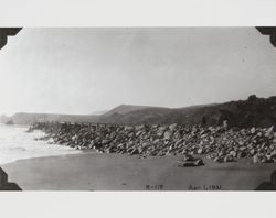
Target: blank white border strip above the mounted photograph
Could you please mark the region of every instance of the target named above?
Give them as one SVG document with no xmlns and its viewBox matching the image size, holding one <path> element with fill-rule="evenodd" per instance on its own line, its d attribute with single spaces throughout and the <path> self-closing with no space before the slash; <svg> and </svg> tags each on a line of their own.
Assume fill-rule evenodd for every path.
<svg viewBox="0 0 276 218">
<path fill-rule="evenodd" d="M 0 0 L 0 26 L 276 25 L 275 0 Z"/>
</svg>

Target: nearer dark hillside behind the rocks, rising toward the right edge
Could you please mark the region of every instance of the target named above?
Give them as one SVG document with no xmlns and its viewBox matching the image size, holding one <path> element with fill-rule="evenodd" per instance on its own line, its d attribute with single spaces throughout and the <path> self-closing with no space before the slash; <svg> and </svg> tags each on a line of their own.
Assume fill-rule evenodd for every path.
<svg viewBox="0 0 276 218">
<path fill-rule="evenodd" d="M 146 107 L 127 113 L 104 115 L 99 122 L 123 124 L 181 123 L 219 126 L 227 120 L 234 127 L 270 127 L 276 124 L 276 97 L 192 106 L 185 108 Z"/>
</svg>

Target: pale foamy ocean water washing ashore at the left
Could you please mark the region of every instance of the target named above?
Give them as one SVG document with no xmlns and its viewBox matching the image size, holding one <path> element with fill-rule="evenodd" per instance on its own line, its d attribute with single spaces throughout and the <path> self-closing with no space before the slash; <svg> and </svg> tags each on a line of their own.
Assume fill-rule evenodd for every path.
<svg viewBox="0 0 276 218">
<path fill-rule="evenodd" d="M 46 141 L 36 141 L 43 137 L 41 131 L 26 132 L 28 127 L 0 124 L 0 164 L 22 159 L 54 156 L 79 153 L 68 146 L 47 144 Z"/>
</svg>

